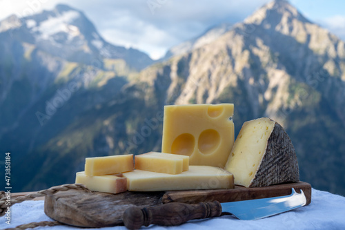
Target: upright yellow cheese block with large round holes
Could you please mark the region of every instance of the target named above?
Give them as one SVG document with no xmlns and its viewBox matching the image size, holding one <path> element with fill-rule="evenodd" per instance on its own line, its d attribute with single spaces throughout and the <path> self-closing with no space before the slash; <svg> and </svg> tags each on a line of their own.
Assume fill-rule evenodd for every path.
<svg viewBox="0 0 345 230">
<path fill-rule="evenodd" d="M 233 111 L 233 104 L 164 106 L 161 151 L 223 168 L 234 143 Z"/>
</svg>

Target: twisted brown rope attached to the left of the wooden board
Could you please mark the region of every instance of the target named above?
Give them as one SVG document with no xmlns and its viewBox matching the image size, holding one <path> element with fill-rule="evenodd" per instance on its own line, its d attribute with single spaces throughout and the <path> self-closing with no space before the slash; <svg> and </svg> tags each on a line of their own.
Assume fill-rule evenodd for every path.
<svg viewBox="0 0 345 230">
<path fill-rule="evenodd" d="M 68 191 L 70 189 L 76 189 L 76 190 L 83 190 L 88 193 L 91 191 L 89 189 L 86 189 L 86 187 L 83 184 L 63 184 L 59 186 L 52 186 L 50 189 L 44 189 L 41 191 L 37 191 L 37 193 L 31 193 L 27 195 L 22 195 L 18 196 L 15 198 L 11 198 L 10 205 L 6 204 L 6 192 L 5 191 L 0 191 L 0 217 L 5 215 L 7 207 L 11 207 L 13 204 L 18 204 L 26 200 L 32 200 L 34 198 L 39 198 L 44 195 L 52 195 L 55 194 L 59 191 Z M 30 224 L 21 224 L 18 227 L 15 228 L 10 228 L 8 230 L 14 230 L 14 229 L 32 229 L 35 227 L 43 227 L 43 226 L 55 226 L 55 225 L 60 225 L 63 224 L 58 221 L 41 221 L 41 222 L 32 222 Z M 7 230 L 7 229 L 6 229 Z"/>
</svg>

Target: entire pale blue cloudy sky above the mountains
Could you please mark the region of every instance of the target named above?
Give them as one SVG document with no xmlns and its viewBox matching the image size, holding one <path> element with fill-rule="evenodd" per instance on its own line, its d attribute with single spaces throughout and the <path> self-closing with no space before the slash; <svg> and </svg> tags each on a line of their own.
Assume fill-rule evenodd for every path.
<svg viewBox="0 0 345 230">
<path fill-rule="evenodd" d="M 172 46 L 219 23 L 243 21 L 270 0 L 0 0 L 0 20 L 66 3 L 83 11 L 104 39 L 159 59 Z M 345 40 L 345 1 L 290 0 L 311 21 Z"/>
</svg>

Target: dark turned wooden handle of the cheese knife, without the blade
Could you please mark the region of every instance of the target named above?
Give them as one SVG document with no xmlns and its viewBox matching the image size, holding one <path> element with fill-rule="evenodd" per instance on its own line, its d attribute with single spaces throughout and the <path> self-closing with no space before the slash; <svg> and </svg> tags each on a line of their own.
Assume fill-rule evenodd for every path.
<svg viewBox="0 0 345 230">
<path fill-rule="evenodd" d="M 188 220 L 212 218 L 221 215 L 219 202 L 199 202 L 185 204 L 171 202 L 156 207 L 140 209 L 130 207 L 124 212 L 123 220 L 128 229 L 157 224 L 162 226 L 179 225 Z"/>
</svg>

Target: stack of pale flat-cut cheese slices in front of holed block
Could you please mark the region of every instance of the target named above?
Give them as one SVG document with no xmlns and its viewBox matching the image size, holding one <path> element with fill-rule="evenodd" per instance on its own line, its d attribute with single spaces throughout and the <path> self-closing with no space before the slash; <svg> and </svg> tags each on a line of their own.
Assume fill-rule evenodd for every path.
<svg viewBox="0 0 345 230">
<path fill-rule="evenodd" d="M 111 166 L 109 166 L 111 164 Z M 217 182 L 215 182 L 217 180 Z M 233 174 L 213 166 L 189 166 L 189 157 L 169 153 L 145 153 L 86 158 L 84 172 L 76 183 L 92 191 L 168 191 L 186 189 L 230 189 Z"/>
</svg>

